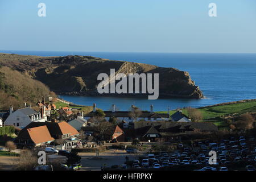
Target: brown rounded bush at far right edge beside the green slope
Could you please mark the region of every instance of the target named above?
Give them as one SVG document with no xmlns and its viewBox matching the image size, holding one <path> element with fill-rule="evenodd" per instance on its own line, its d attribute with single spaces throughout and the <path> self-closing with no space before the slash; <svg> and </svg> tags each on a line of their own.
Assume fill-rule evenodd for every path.
<svg viewBox="0 0 256 182">
<path fill-rule="evenodd" d="M 253 129 L 254 118 L 251 114 L 242 114 L 240 119 L 236 122 L 237 129 L 249 130 Z"/>
</svg>

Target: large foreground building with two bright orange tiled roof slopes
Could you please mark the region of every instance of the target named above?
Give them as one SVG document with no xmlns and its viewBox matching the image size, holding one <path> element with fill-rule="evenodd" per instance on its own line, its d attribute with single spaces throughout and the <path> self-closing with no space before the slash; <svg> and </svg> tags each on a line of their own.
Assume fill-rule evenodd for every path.
<svg viewBox="0 0 256 182">
<path fill-rule="evenodd" d="M 42 127 L 44 126 L 44 127 Z M 47 129 L 47 130 L 46 130 Z M 35 131 L 38 131 L 38 134 L 34 134 Z M 31 133 L 32 132 L 32 133 Z M 49 135 L 53 140 L 48 140 Z M 31 134 L 34 137 L 34 140 L 32 140 L 31 143 Z M 43 138 L 43 135 L 46 135 L 48 137 Z M 77 136 L 79 135 L 79 132 L 73 128 L 71 125 L 69 125 L 67 122 L 31 122 L 29 125 L 24 127 L 20 132 L 18 137 L 15 138 L 14 142 L 18 146 L 40 146 L 40 145 L 46 145 L 46 144 L 55 144 L 54 140 L 61 139 L 63 140 L 63 146 L 61 148 L 68 148 L 72 147 L 74 143 L 78 142 L 79 139 L 77 139 Z M 42 139 L 38 139 L 41 138 Z M 30 139 L 30 143 L 28 143 L 28 139 Z M 48 141 L 41 142 L 43 139 L 47 139 Z M 40 141 L 41 143 L 35 143 L 35 141 Z M 34 145 L 35 144 L 35 145 Z"/>
</svg>

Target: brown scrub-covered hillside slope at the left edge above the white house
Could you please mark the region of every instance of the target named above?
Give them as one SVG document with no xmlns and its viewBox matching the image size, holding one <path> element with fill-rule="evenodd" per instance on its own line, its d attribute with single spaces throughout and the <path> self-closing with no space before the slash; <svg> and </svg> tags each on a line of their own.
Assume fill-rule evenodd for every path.
<svg viewBox="0 0 256 182">
<path fill-rule="evenodd" d="M 0 68 L 0 109 L 9 109 L 10 105 L 18 109 L 25 101 L 33 106 L 49 94 L 54 95 L 42 82 L 8 67 Z"/>
</svg>

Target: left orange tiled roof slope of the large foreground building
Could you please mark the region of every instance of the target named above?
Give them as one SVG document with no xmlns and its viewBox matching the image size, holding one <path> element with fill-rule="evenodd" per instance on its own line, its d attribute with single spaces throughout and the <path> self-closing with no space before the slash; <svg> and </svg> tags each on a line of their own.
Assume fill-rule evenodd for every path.
<svg viewBox="0 0 256 182">
<path fill-rule="evenodd" d="M 31 140 L 35 144 L 45 143 L 54 140 L 54 138 L 51 137 L 47 126 L 33 127 L 31 129 L 27 129 L 27 132 L 28 135 L 30 135 Z"/>
</svg>

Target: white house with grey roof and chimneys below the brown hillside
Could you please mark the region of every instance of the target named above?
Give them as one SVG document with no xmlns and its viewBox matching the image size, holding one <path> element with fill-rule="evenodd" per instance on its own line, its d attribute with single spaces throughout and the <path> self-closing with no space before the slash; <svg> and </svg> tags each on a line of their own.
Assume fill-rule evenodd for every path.
<svg viewBox="0 0 256 182">
<path fill-rule="evenodd" d="M 10 115 L 5 121 L 5 126 L 15 126 L 20 129 L 26 127 L 31 122 L 45 122 L 45 113 L 42 113 L 31 109 L 30 107 L 25 107 L 23 109 L 18 109 L 13 111 L 13 107 L 10 107 Z"/>
</svg>

